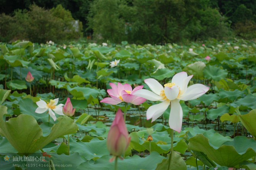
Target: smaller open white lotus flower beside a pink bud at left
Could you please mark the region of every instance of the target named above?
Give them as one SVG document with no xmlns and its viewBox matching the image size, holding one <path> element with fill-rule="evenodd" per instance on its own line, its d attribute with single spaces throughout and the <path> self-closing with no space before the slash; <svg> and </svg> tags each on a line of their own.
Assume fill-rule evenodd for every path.
<svg viewBox="0 0 256 170">
<path fill-rule="evenodd" d="M 35 112 L 36 113 L 44 113 L 48 110 L 50 117 L 52 117 L 53 120 L 55 121 L 56 120 L 55 113 L 57 113 L 58 115 L 64 115 L 62 112 L 63 104 L 58 104 L 58 100 L 59 99 L 54 99 L 54 100 L 51 99 L 50 103 L 49 102 L 46 103 L 44 100 L 40 99 L 38 102 L 36 102 L 38 107 Z"/>
</svg>

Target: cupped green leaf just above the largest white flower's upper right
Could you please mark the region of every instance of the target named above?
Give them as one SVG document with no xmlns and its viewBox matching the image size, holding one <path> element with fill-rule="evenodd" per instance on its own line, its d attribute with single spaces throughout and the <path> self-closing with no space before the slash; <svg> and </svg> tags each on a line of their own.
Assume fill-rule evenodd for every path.
<svg viewBox="0 0 256 170">
<path fill-rule="evenodd" d="M 196 79 L 203 78 L 204 77 L 203 70 L 205 66 L 206 65 L 204 62 L 194 62 L 186 66 L 185 71 L 187 71 L 189 74 L 193 74 L 194 78 Z"/>
</svg>

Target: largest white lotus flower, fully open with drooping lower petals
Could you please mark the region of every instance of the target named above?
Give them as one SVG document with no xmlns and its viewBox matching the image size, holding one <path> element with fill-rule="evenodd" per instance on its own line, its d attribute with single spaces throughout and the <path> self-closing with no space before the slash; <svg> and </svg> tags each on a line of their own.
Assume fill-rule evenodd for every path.
<svg viewBox="0 0 256 170">
<path fill-rule="evenodd" d="M 193 75 L 188 76 L 185 71 L 177 73 L 173 76 L 172 83 L 164 84 L 164 87 L 155 79 L 145 79 L 144 82 L 153 92 L 140 89 L 134 92 L 134 95 L 151 101 L 162 101 L 147 109 L 147 120 L 152 118 L 152 121 L 155 121 L 171 104 L 169 126 L 171 129 L 180 133 L 183 117 L 180 100 L 196 99 L 209 90 L 209 87 L 203 84 L 193 84 L 188 87 L 188 83 L 192 77 Z"/>
</svg>

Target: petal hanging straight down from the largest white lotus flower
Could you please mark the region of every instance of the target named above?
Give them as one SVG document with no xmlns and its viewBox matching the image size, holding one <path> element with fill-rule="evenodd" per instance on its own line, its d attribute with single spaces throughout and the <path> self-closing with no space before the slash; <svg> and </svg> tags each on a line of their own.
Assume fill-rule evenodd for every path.
<svg viewBox="0 0 256 170">
<path fill-rule="evenodd" d="M 177 131 L 180 133 L 181 131 L 181 126 L 182 126 L 182 108 L 180 105 L 180 100 L 172 100 L 171 101 L 171 112 L 170 112 L 170 117 L 169 117 L 169 126 L 171 129 Z"/>
</svg>

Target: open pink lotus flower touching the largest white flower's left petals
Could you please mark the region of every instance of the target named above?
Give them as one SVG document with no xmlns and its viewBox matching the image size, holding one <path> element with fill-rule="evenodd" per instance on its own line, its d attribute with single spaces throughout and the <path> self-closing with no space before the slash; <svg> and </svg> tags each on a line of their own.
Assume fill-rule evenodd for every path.
<svg viewBox="0 0 256 170">
<path fill-rule="evenodd" d="M 108 89 L 110 97 L 106 97 L 102 99 L 100 102 L 117 105 L 121 102 L 131 103 L 134 105 L 140 105 L 145 102 L 147 99 L 142 97 L 134 96 L 133 93 L 139 89 L 142 89 L 143 86 L 137 86 L 134 89 L 131 88 L 130 84 L 121 84 L 118 83 L 115 85 L 114 83 L 109 83 L 112 89 Z"/>
</svg>

